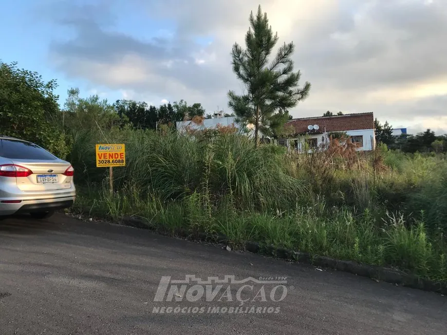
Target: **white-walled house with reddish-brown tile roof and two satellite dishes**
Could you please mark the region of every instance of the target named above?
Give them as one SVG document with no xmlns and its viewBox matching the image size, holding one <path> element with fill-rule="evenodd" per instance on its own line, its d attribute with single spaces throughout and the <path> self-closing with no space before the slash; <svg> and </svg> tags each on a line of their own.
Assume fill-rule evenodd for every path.
<svg viewBox="0 0 447 335">
<path fill-rule="evenodd" d="M 373 113 L 357 113 L 320 117 L 303 117 L 290 120 L 286 127 L 292 127 L 294 135 L 278 139 L 278 145 L 302 151 L 306 146 L 312 149 L 324 147 L 331 132 L 346 132 L 349 140 L 355 143 L 357 151 L 370 151 L 376 148 Z"/>
</svg>

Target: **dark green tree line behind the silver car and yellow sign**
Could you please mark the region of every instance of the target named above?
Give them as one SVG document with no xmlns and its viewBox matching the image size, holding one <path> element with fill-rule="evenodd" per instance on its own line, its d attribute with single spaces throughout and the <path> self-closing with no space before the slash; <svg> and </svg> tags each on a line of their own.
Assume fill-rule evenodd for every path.
<svg viewBox="0 0 447 335">
<path fill-rule="evenodd" d="M 110 104 L 98 95 L 81 97 L 78 88 L 68 90 L 61 108 L 56 88 L 55 80 L 45 82 L 35 71 L 0 60 L 0 134 L 34 142 L 66 157 L 72 137 L 80 130 L 175 128 L 177 121 L 205 114 L 200 103 L 188 105 L 180 100 L 156 107 L 117 100 Z"/>
</svg>

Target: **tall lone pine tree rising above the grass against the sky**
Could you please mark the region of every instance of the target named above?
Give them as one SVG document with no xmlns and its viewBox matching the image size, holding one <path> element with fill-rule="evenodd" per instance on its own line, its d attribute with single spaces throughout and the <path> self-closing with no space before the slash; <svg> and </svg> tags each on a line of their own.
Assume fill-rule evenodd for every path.
<svg viewBox="0 0 447 335">
<path fill-rule="evenodd" d="M 278 110 L 288 110 L 304 100 L 309 94 L 310 83 L 298 86 L 301 73 L 293 72 L 293 42 L 281 46 L 269 64 L 268 58 L 278 42 L 278 35 L 273 34 L 267 13 L 263 14 L 260 6 L 256 16 L 251 12 L 249 22 L 250 28 L 245 36 L 246 50 L 237 43 L 232 49 L 233 71 L 245 85 L 245 94 L 237 95 L 229 91 L 228 105 L 238 120 L 254 125 L 257 146 L 259 131 L 271 135 L 272 116 Z"/>
</svg>

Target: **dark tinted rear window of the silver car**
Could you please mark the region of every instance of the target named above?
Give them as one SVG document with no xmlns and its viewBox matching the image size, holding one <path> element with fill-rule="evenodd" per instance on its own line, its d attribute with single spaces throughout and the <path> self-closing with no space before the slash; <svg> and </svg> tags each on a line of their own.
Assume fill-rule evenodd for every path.
<svg viewBox="0 0 447 335">
<path fill-rule="evenodd" d="M 51 160 L 57 158 L 41 147 L 22 141 L 0 139 L 0 156 L 11 160 Z"/>
</svg>

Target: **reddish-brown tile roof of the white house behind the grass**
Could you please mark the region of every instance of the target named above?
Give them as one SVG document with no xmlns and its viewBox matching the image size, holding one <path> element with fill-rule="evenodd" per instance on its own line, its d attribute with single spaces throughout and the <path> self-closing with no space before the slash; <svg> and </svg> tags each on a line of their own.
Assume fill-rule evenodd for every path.
<svg viewBox="0 0 447 335">
<path fill-rule="evenodd" d="M 293 119 L 288 122 L 295 128 L 297 134 L 306 133 L 309 125 L 318 125 L 317 132 L 326 131 L 347 131 L 360 129 L 374 129 L 373 113 L 357 113 L 333 116 L 303 117 Z M 312 130 L 315 132 L 315 130 Z"/>
</svg>

